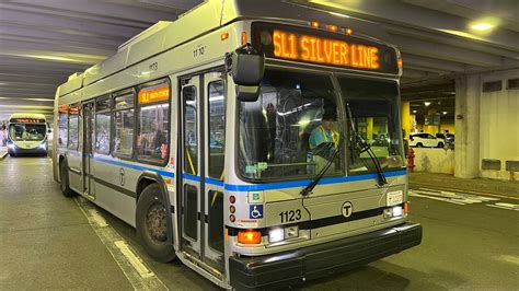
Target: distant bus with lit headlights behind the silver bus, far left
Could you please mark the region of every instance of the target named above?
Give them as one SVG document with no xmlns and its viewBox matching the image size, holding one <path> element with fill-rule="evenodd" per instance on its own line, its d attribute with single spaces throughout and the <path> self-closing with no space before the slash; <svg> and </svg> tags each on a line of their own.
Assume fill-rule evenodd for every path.
<svg viewBox="0 0 519 291">
<path fill-rule="evenodd" d="M 8 125 L 9 155 L 47 155 L 47 130 L 48 124 L 43 114 L 15 113 L 11 115 Z"/>
</svg>

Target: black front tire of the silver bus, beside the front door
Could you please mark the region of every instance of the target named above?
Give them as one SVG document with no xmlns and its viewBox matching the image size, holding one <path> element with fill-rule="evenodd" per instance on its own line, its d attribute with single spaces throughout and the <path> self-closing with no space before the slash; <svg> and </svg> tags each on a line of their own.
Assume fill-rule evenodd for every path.
<svg viewBox="0 0 519 291">
<path fill-rule="evenodd" d="M 145 251 L 157 261 L 176 258 L 173 244 L 168 243 L 166 203 L 158 184 L 150 184 L 137 201 L 136 229 Z"/>
</svg>

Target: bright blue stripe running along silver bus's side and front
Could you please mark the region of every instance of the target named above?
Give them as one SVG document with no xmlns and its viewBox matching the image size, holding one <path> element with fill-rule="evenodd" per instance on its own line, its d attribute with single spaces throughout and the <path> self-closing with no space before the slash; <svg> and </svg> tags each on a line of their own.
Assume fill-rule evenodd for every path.
<svg viewBox="0 0 519 291">
<path fill-rule="evenodd" d="M 152 168 L 152 167 L 147 167 L 147 166 L 141 166 L 141 165 L 136 165 L 136 164 L 129 164 L 129 163 L 126 163 L 126 162 L 108 160 L 108 159 L 102 159 L 102 158 L 94 158 L 94 160 L 103 162 L 103 163 L 107 163 L 107 164 L 113 164 L 113 165 L 118 165 L 118 166 L 126 166 L 126 167 L 137 170 L 137 171 L 152 171 L 152 172 L 155 172 L 155 173 L 161 174 L 162 176 L 166 176 L 166 177 L 174 177 L 175 176 L 175 174 L 171 173 L 171 172 L 157 170 L 157 168 Z M 405 174 L 406 174 L 405 170 L 385 172 L 384 173 L 384 175 L 387 177 L 403 176 Z M 182 174 L 182 177 L 185 178 L 185 179 L 194 181 L 194 182 L 200 182 L 200 177 L 195 176 L 195 175 Z M 338 184 L 338 183 L 345 183 L 345 182 L 356 182 L 356 181 L 376 179 L 376 178 L 377 178 L 377 174 L 365 174 L 365 175 L 347 176 L 347 177 L 327 177 L 327 178 L 322 178 L 319 182 L 319 185 Z M 275 182 L 275 183 L 268 183 L 268 184 L 253 184 L 253 185 L 223 184 L 222 181 L 217 181 L 217 179 L 211 179 L 211 178 L 206 178 L 205 182 L 207 184 L 212 184 L 212 185 L 216 185 L 216 186 L 224 187 L 226 190 L 254 191 L 254 190 L 273 190 L 273 189 L 304 187 L 308 184 L 310 184 L 311 179 Z"/>
</svg>

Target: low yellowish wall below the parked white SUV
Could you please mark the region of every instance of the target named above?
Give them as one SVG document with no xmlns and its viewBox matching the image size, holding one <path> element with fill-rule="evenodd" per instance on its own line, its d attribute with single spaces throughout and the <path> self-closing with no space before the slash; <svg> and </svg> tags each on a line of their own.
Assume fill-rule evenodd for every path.
<svg viewBox="0 0 519 291">
<path fill-rule="evenodd" d="M 413 148 L 415 151 L 415 172 L 454 173 L 454 151 L 445 149 Z"/>
</svg>

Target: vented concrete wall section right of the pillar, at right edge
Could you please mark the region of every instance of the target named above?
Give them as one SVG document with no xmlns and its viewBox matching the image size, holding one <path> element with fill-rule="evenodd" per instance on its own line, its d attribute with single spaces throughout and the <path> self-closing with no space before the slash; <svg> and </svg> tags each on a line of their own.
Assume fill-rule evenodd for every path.
<svg viewBox="0 0 519 291">
<path fill-rule="evenodd" d="M 519 89 L 508 90 L 507 80 L 519 78 L 519 70 L 483 74 L 482 83 L 503 82 L 503 90 L 482 92 L 480 102 L 480 174 L 507 179 L 506 161 L 519 161 Z M 501 161 L 501 171 L 482 170 L 481 160 Z M 518 173 L 519 178 L 519 173 Z"/>
</svg>

